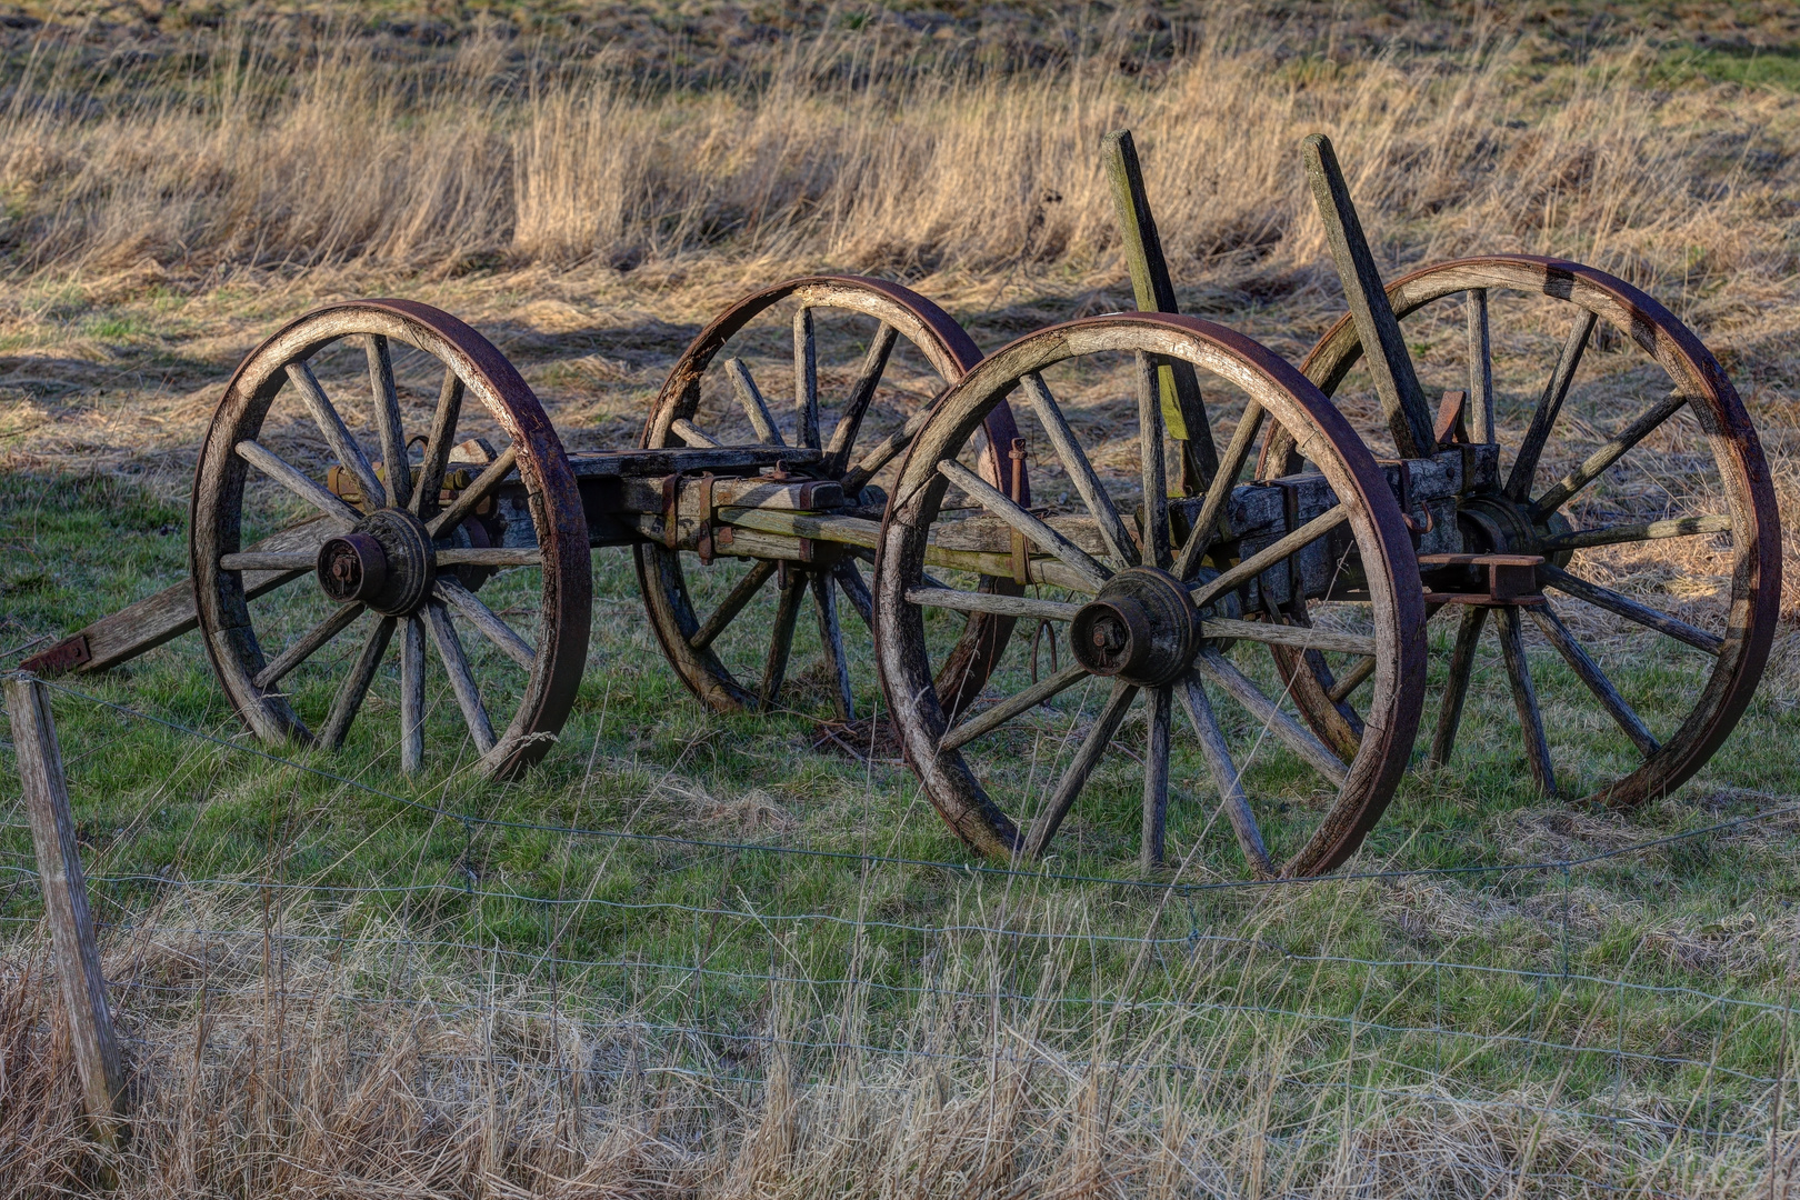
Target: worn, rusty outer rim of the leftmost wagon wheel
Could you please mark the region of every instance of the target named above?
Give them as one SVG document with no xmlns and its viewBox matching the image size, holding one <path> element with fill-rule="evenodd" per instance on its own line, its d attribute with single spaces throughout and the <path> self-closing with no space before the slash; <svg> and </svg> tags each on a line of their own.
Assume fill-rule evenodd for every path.
<svg viewBox="0 0 1800 1200">
<path fill-rule="evenodd" d="M 455 371 L 466 392 L 481 399 L 518 446 L 518 473 L 542 552 L 544 621 L 518 709 L 477 763 L 486 775 L 513 777 L 549 752 L 587 664 L 592 612 L 587 518 L 562 439 L 531 387 L 491 342 L 450 313 L 392 299 L 329 304 L 297 317 L 239 363 L 202 443 L 189 502 L 189 569 L 207 655 L 232 707 L 259 738 L 311 739 L 284 698 L 250 682 L 256 667 L 248 664 L 261 662 L 261 648 L 243 592 L 232 572 L 218 570 L 218 556 L 239 547 L 247 466 L 234 446 L 261 432 L 284 383 L 281 367 L 362 333 L 412 345 Z"/>
</svg>

